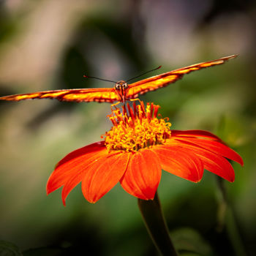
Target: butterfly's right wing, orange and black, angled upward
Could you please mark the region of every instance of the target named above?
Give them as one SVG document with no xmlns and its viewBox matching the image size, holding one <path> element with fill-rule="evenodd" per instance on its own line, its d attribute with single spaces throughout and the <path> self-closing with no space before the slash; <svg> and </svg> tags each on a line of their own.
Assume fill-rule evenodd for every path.
<svg viewBox="0 0 256 256">
<path fill-rule="evenodd" d="M 201 62 L 188 67 L 182 67 L 181 69 L 166 72 L 161 75 L 156 75 L 151 78 L 146 78 L 135 83 L 131 83 L 129 84 L 129 90 L 127 91 L 126 99 L 135 99 L 139 94 L 146 94 L 148 91 L 155 91 L 159 88 L 169 85 L 170 83 L 175 83 L 176 80 L 181 79 L 183 75 L 189 74 L 192 71 L 223 64 L 225 61 L 236 57 L 237 55 L 232 55 L 221 59 L 215 59 L 214 61 Z"/>
</svg>

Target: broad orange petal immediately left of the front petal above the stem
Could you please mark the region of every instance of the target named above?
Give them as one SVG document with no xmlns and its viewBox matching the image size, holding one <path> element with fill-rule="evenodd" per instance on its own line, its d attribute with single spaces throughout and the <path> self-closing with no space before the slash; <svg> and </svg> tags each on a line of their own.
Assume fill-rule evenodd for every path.
<svg viewBox="0 0 256 256">
<path fill-rule="evenodd" d="M 112 189 L 124 175 L 129 162 L 129 153 L 111 151 L 90 165 L 82 181 L 86 200 L 95 203 Z"/>
</svg>

